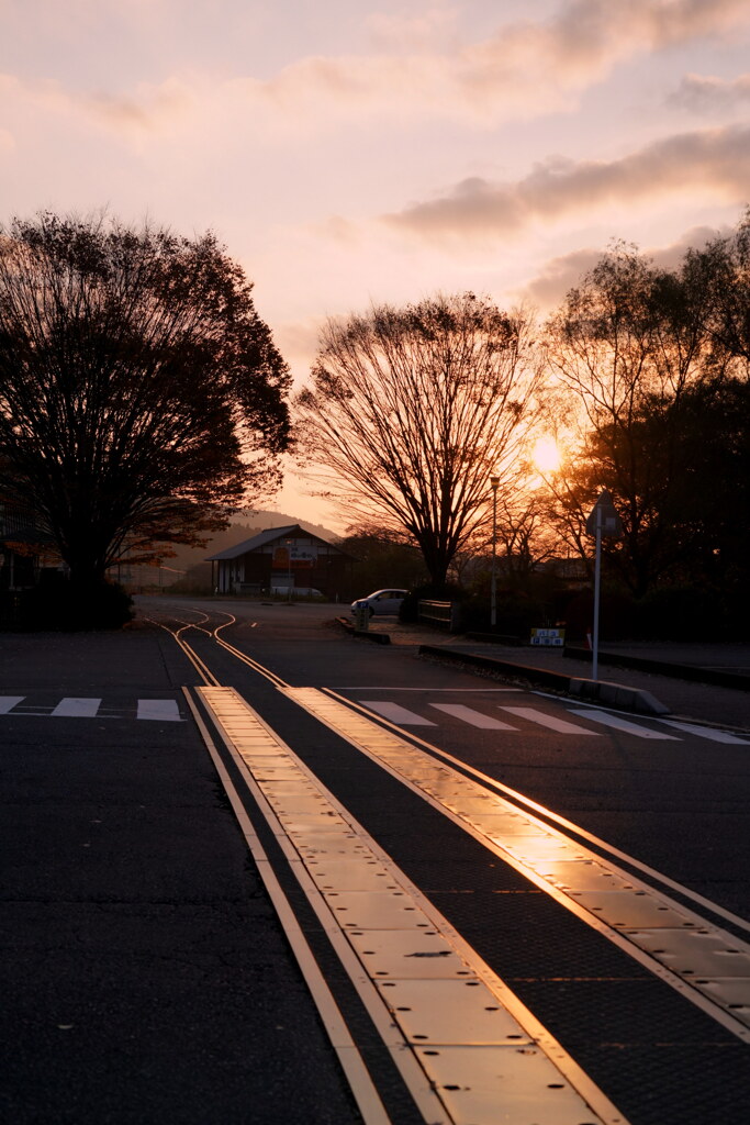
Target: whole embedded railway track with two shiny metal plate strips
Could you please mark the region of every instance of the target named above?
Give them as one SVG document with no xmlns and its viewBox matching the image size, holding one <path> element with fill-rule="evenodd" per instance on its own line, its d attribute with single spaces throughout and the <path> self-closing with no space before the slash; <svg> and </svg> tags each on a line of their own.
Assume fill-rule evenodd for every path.
<svg viewBox="0 0 750 1125">
<path fill-rule="evenodd" d="M 368 1125 L 714 1119 L 679 1098 L 679 1116 L 665 1117 L 661 1098 L 643 1112 L 635 1098 L 625 1116 L 606 1066 L 540 1018 L 545 1004 L 528 1002 L 517 971 L 507 979 L 497 942 L 472 940 L 481 920 L 464 927 L 470 909 L 439 908 L 451 898 L 441 850 L 479 857 L 477 884 L 496 879 L 496 898 L 521 897 L 542 921 L 553 914 L 550 946 L 586 947 L 593 984 L 643 982 L 667 1026 L 693 1020 L 698 1048 L 713 1036 L 732 1081 L 750 1072 L 746 919 L 338 692 L 287 683 L 227 639 L 232 614 L 151 620 L 195 669 L 190 713 Z M 424 818 L 426 880 L 425 864 L 408 870 L 408 843 L 391 846 L 383 800 Z M 657 1062 L 644 1065 L 658 1081 Z"/>
</svg>

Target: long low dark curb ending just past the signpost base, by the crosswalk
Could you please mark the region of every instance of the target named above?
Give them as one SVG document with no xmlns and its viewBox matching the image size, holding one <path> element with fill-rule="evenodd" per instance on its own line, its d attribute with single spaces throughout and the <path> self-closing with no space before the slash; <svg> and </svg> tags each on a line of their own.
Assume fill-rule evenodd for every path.
<svg viewBox="0 0 750 1125">
<path fill-rule="evenodd" d="M 639 711 L 642 714 L 669 714 L 670 709 L 660 703 L 651 692 L 639 687 L 627 687 L 625 684 L 614 684 L 603 680 L 582 680 L 580 676 L 567 676 L 562 672 L 549 668 L 534 668 L 515 660 L 498 660 L 493 656 L 477 656 L 476 652 L 461 652 L 454 648 L 443 648 L 436 645 L 419 645 L 419 656 L 430 656 L 450 664 L 469 665 L 485 672 L 514 676 L 527 680 L 528 683 L 553 687 L 555 691 L 577 695 L 580 699 L 596 700 L 602 703 L 613 703 L 623 710 Z"/>
</svg>

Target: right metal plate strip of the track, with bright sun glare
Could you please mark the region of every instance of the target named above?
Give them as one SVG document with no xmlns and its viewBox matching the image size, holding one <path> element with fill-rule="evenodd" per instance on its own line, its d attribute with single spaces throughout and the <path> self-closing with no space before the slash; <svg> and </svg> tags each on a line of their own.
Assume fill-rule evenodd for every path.
<svg viewBox="0 0 750 1125">
<path fill-rule="evenodd" d="M 744 1042 L 750 946 L 314 687 L 286 694 Z"/>
</svg>

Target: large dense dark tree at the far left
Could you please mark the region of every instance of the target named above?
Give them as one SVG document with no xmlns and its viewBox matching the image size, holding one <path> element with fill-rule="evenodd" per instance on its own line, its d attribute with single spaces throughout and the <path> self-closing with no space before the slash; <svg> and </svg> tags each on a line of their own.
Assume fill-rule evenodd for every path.
<svg viewBox="0 0 750 1125">
<path fill-rule="evenodd" d="M 198 542 L 278 484 L 290 377 L 251 290 L 210 233 L 0 227 L 0 495 L 76 583 Z"/>
</svg>

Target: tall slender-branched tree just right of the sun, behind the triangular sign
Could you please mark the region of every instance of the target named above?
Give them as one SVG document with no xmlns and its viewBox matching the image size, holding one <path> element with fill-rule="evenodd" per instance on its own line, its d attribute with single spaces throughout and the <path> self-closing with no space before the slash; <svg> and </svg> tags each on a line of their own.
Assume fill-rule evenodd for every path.
<svg viewBox="0 0 750 1125">
<path fill-rule="evenodd" d="M 685 547 L 675 522 L 685 396 L 722 376 L 705 291 L 686 264 L 660 270 L 617 244 L 568 294 L 546 340 L 580 406 L 579 447 L 555 480 L 560 519 L 580 540 L 581 513 L 607 488 L 624 525 L 608 550 L 641 596 Z"/>
</svg>

